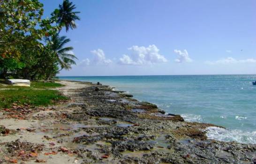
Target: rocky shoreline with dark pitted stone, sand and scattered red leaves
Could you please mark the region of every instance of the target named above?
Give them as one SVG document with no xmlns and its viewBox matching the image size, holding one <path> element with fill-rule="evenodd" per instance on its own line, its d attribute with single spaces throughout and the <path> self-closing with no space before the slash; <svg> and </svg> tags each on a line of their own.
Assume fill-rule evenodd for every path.
<svg viewBox="0 0 256 164">
<path fill-rule="evenodd" d="M 1 163 L 256 164 L 256 145 L 207 139 L 203 129 L 215 125 L 186 122 L 100 83 L 60 83 L 70 101 L 1 112 Z"/>
</svg>

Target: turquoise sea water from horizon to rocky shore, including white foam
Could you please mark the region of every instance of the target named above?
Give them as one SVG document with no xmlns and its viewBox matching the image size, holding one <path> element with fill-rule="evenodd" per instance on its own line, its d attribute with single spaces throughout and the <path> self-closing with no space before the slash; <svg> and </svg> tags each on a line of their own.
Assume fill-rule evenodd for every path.
<svg viewBox="0 0 256 164">
<path fill-rule="evenodd" d="M 256 75 L 62 76 L 101 82 L 187 121 L 206 122 L 209 138 L 256 144 Z"/>
</svg>

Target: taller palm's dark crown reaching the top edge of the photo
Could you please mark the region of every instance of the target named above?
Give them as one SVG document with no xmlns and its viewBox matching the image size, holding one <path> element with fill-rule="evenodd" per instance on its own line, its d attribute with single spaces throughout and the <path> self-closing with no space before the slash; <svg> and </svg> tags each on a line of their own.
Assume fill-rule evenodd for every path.
<svg viewBox="0 0 256 164">
<path fill-rule="evenodd" d="M 69 2 L 69 0 L 63 0 L 63 3 L 59 5 L 57 23 L 59 23 L 60 26 L 65 26 L 66 32 L 69 30 L 69 28 L 71 30 L 75 29 L 75 21 L 80 20 L 80 18 L 76 15 L 80 12 L 73 11 L 75 8 L 75 5 L 73 5 L 72 2 Z"/>
</svg>

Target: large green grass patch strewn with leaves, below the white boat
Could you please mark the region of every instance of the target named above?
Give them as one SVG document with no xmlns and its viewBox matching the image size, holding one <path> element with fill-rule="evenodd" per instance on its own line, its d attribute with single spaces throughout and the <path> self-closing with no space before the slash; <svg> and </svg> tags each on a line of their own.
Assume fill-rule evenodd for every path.
<svg viewBox="0 0 256 164">
<path fill-rule="evenodd" d="M 9 108 L 12 103 L 47 106 L 60 100 L 68 100 L 68 97 L 62 96 L 57 90 L 24 88 L 0 90 L 0 108 Z"/>
</svg>

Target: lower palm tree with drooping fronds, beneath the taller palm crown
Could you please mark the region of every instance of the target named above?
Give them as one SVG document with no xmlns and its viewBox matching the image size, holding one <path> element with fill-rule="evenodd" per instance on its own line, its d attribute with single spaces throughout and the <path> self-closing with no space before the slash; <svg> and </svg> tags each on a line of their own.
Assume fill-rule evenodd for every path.
<svg viewBox="0 0 256 164">
<path fill-rule="evenodd" d="M 73 47 L 64 47 L 70 39 L 66 36 L 59 37 L 59 34 L 53 35 L 52 39 L 48 39 L 48 43 L 50 44 L 51 50 L 53 51 L 54 56 L 57 58 L 57 63 L 60 66 L 60 70 L 62 69 L 71 69 L 71 65 L 75 65 L 75 55 L 71 50 Z M 58 72 L 60 71 L 58 70 Z M 47 81 L 51 78 L 52 72 L 50 72 Z"/>
</svg>

